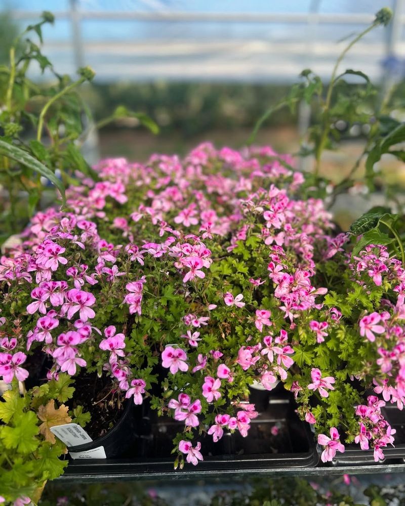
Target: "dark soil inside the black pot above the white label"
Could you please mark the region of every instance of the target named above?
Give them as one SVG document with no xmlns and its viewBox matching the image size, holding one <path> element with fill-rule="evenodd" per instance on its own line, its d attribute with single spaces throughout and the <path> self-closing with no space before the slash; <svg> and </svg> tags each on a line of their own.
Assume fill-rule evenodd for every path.
<svg viewBox="0 0 405 506">
<path fill-rule="evenodd" d="M 74 400 L 69 407 L 83 406 L 91 414 L 85 431 L 94 440 L 104 436 L 118 422 L 124 412 L 125 397 L 112 385 L 111 378 L 98 377 L 97 373 L 80 373 L 75 377 Z"/>
</svg>

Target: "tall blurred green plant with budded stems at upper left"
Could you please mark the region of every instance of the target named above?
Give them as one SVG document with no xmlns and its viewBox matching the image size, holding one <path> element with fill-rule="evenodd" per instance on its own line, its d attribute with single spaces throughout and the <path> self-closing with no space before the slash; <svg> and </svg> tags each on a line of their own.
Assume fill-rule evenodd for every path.
<svg viewBox="0 0 405 506">
<path fill-rule="evenodd" d="M 4 15 L 0 21 L 7 23 L 9 17 Z M 59 74 L 41 52 L 43 26 L 53 22 L 53 14 L 44 12 L 41 21 L 28 25 L 11 44 L 14 25 L 11 31 L 2 30 L 7 34 L 4 47 L 7 43 L 10 47 L 8 65 L 0 66 L 0 244 L 20 231 L 35 210 L 58 198 L 55 188 L 63 205 L 65 187 L 77 184 L 75 174 L 97 179 L 80 148 L 99 126 L 131 118 L 136 125 L 142 123 L 151 132 L 158 132 L 156 123 L 146 114 L 124 106 L 115 107 L 106 118 L 94 123 L 90 109 L 77 91 L 92 81 L 94 71 L 81 67 L 73 80 Z M 34 61 L 42 74 L 50 72 L 50 83 L 39 86 L 28 77 Z"/>
</svg>

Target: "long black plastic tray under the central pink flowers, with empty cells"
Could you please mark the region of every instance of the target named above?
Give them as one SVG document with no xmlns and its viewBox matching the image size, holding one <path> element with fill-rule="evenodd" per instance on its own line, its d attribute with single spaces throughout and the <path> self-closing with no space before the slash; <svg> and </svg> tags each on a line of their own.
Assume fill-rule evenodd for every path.
<svg viewBox="0 0 405 506">
<path fill-rule="evenodd" d="M 288 392 L 271 396 L 266 409 L 252 420 L 246 438 L 236 431 L 224 434 L 214 443 L 211 436 L 201 436 L 201 452 L 204 461 L 197 466 L 185 463 L 184 470 L 173 469 L 172 440 L 184 428 L 183 422 L 170 417 L 157 418 L 146 404 L 137 416 L 138 438 L 128 448 L 126 458 L 72 460 L 65 476 L 96 477 L 97 475 L 198 475 L 204 471 L 242 471 L 252 469 L 306 468 L 318 463 L 318 454 L 309 424 L 302 422 L 295 413 L 294 398 Z M 271 429 L 276 427 L 274 436 Z M 91 475 L 91 476 L 90 476 Z"/>
</svg>

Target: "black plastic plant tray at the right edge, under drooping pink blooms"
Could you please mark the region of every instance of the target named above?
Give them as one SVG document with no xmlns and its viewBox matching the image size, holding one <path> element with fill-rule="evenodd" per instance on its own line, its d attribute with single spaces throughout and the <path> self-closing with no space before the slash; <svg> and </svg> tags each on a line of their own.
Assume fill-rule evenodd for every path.
<svg viewBox="0 0 405 506">
<path fill-rule="evenodd" d="M 380 462 L 374 461 L 373 450 L 361 450 L 358 444 L 345 445 L 344 453 L 336 453 L 332 461 L 333 466 L 371 465 L 387 462 L 405 462 L 405 410 L 400 411 L 394 404 L 388 404 L 381 408 L 384 418 L 389 422 L 394 434 L 394 445 L 382 448 L 385 459 Z"/>
</svg>

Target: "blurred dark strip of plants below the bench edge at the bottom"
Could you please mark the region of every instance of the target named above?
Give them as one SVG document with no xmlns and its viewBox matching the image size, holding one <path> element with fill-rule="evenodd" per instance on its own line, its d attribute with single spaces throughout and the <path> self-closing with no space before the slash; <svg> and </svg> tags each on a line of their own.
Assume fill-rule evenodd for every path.
<svg viewBox="0 0 405 506">
<path fill-rule="evenodd" d="M 371 485 L 371 480 L 374 484 Z M 400 475 L 327 478 L 248 478 L 241 482 L 191 481 L 72 484 L 49 483 L 39 506 L 398 506 L 405 500 Z"/>
</svg>

